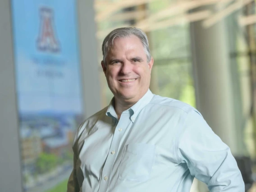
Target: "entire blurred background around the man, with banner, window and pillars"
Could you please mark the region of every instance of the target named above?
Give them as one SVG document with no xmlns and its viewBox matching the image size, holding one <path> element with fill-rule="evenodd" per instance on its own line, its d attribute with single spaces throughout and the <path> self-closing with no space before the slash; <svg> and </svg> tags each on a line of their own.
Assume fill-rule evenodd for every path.
<svg viewBox="0 0 256 192">
<path fill-rule="evenodd" d="M 102 41 L 128 26 L 148 36 L 151 91 L 196 107 L 256 192 L 255 0 L 0 1 L 0 191 L 66 191 L 74 133 L 113 97 Z"/>
</svg>

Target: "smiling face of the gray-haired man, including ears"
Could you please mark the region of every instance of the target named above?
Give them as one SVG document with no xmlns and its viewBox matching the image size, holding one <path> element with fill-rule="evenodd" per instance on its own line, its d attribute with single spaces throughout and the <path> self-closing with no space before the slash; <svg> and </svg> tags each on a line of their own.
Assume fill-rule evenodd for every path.
<svg viewBox="0 0 256 192">
<path fill-rule="evenodd" d="M 153 58 L 147 62 L 141 40 L 132 35 L 114 39 L 101 62 L 110 90 L 115 98 L 124 102 L 137 102 L 149 88 Z"/>
</svg>

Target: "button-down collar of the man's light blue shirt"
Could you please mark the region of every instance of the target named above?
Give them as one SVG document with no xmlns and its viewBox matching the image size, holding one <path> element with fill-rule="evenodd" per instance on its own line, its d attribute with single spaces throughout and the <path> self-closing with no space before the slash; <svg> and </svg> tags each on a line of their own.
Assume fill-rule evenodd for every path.
<svg viewBox="0 0 256 192">
<path fill-rule="evenodd" d="M 135 103 L 128 110 L 126 110 L 130 113 L 130 118 L 133 123 L 136 120 L 138 114 L 141 112 L 141 110 L 151 101 L 153 96 L 154 96 L 154 94 L 148 89 L 146 94 L 144 96 L 142 96 L 142 98 L 139 101 L 137 101 L 137 103 Z M 114 97 L 110 101 L 110 105 L 108 107 L 106 115 L 112 116 L 112 117 L 118 119 L 117 114 L 114 110 Z"/>
</svg>

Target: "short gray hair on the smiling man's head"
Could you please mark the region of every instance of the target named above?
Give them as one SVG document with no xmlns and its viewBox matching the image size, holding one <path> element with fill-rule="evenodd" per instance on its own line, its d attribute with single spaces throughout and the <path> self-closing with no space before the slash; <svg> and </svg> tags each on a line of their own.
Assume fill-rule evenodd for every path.
<svg viewBox="0 0 256 192">
<path fill-rule="evenodd" d="M 114 39 L 129 37 L 131 35 L 137 36 L 142 41 L 142 45 L 144 47 L 144 51 L 145 51 L 146 57 L 147 57 L 147 62 L 150 62 L 151 54 L 150 54 L 148 40 L 147 40 L 145 32 L 143 32 L 141 29 L 136 28 L 136 27 L 121 27 L 121 28 L 117 28 L 117 29 L 114 29 L 113 31 L 111 31 L 105 37 L 105 39 L 102 43 L 101 49 L 102 49 L 102 54 L 103 54 L 103 62 L 105 64 L 105 66 L 106 66 L 106 57 L 108 55 L 108 52 L 109 52 L 111 46 L 113 46 Z"/>
</svg>

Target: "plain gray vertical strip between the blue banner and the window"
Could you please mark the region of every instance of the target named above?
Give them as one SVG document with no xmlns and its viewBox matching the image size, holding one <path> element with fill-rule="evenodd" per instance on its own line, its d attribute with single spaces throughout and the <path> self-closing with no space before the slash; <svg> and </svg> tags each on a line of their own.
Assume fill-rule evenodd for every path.
<svg viewBox="0 0 256 192">
<path fill-rule="evenodd" d="M 101 110 L 100 75 L 97 55 L 94 0 L 78 0 L 80 57 L 86 117 Z"/>
</svg>

